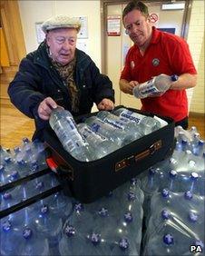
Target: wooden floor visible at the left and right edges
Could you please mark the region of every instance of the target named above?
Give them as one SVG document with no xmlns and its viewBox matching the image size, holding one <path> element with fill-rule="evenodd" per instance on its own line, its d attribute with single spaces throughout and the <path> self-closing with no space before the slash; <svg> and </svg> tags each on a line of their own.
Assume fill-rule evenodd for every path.
<svg viewBox="0 0 205 256">
<path fill-rule="evenodd" d="M 14 148 L 21 143 L 22 138 L 32 138 L 34 133 L 34 120 L 20 113 L 11 103 L 0 102 L 1 145 L 5 148 Z M 195 125 L 200 137 L 205 139 L 204 114 L 190 114 L 189 127 Z"/>
</svg>

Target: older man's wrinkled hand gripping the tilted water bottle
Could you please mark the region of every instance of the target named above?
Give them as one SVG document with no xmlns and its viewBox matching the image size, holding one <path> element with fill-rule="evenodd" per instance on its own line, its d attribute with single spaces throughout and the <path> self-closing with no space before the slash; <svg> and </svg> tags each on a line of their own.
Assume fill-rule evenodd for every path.
<svg viewBox="0 0 205 256">
<path fill-rule="evenodd" d="M 47 97 L 38 106 L 38 115 L 43 120 L 48 120 L 52 113 L 52 110 L 56 107 L 61 107 L 54 102 L 51 97 Z M 63 107 L 61 107 L 63 108 Z"/>
</svg>

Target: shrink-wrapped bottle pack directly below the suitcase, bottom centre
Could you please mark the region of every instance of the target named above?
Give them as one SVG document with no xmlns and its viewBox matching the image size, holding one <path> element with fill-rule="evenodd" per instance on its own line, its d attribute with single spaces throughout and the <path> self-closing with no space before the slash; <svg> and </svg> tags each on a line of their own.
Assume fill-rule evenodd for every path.
<svg viewBox="0 0 205 256">
<path fill-rule="evenodd" d="M 91 204 L 76 202 L 63 226 L 61 255 L 140 255 L 142 201 L 132 181 Z"/>
</svg>

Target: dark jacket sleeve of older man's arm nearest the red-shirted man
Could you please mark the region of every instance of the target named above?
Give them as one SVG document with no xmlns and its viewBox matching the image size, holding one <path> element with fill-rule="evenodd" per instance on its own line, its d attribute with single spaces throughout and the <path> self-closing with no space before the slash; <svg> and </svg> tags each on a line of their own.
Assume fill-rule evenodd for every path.
<svg viewBox="0 0 205 256">
<path fill-rule="evenodd" d="M 114 103 L 114 90 L 112 89 L 112 81 L 105 74 L 101 74 L 98 67 L 90 63 L 91 76 L 93 81 L 93 99 L 98 104 L 102 99 L 107 98 Z"/>
</svg>

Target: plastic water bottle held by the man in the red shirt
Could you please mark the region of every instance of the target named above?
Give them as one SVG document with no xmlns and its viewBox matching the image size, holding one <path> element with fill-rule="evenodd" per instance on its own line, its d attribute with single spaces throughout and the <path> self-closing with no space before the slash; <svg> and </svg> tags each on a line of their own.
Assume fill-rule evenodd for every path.
<svg viewBox="0 0 205 256">
<path fill-rule="evenodd" d="M 167 75 L 159 74 L 153 77 L 151 80 L 135 86 L 132 90 L 132 94 L 139 99 L 149 97 L 154 94 L 165 93 L 170 89 L 171 84 L 178 80 L 176 74 Z"/>
</svg>

